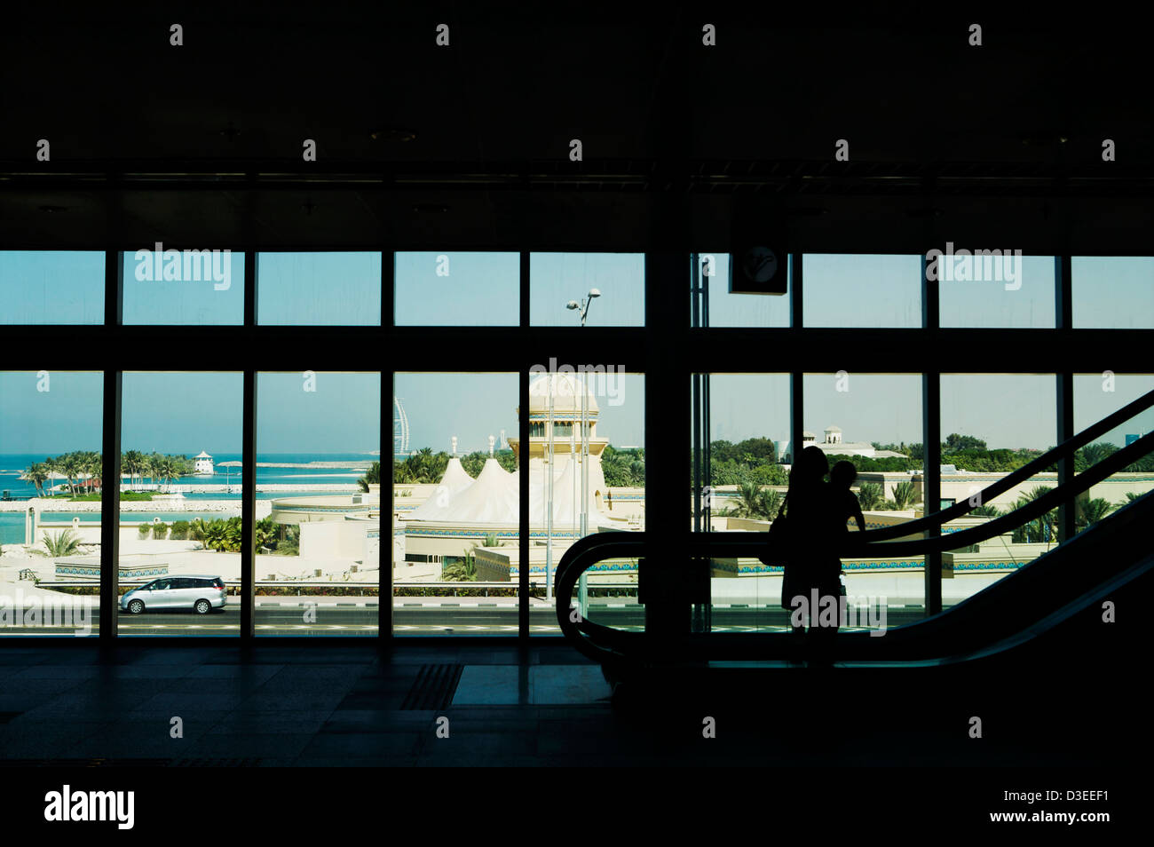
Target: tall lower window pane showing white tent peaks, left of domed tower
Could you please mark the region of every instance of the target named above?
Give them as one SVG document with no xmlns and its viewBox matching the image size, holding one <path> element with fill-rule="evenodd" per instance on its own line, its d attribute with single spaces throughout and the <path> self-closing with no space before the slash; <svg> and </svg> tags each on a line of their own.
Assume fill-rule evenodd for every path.
<svg viewBox="0 0 1154 847">
<path fill-rule="evenodd" d="M 396 374 L 394 385 L 410 444 L 394 457 L 394 629 L 516 634 L 517 375 Z"/>
</svg>

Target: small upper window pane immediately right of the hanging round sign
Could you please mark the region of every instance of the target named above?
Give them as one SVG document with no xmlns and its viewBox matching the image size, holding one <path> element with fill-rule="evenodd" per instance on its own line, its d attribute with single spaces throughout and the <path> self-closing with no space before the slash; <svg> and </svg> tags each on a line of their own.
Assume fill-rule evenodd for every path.
<svg viewBox="0 0 1154 847">
<path fill-rule="evenodd" d="M 807 327 L 921 327 L 922 257 L 805 254 Z"/>
</svg>

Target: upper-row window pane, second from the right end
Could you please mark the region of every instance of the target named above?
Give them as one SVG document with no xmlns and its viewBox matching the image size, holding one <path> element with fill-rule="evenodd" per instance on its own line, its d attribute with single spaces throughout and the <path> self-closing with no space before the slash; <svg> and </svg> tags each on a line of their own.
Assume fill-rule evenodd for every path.
<svg viewBox="0 0 1154 847">
<path fill-rule="evenodd" d="M 956 256 L 957 267 L 943 273 L 945 261 L 938 260 L 942 327 L 1054 328 L 1054 256 Z"/>
</svg>

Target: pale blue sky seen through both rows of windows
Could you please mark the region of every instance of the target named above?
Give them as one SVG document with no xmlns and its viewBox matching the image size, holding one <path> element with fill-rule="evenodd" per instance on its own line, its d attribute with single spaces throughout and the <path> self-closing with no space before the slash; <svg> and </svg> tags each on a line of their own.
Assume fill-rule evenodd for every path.
<svg viewBox="0 0 1154 847">
<path fill-rule="evenodd" d="M 151 247 L 151 245 L 149 245 Z M 444 258 L 442 258 L 444 257 Z M 237 323 L 243 292 L 243 256 L 231 256 L 231 286 L 212 282 L 138 282 L 134 255 L 125 256 L 128 322 Z M 447 260 L 447 261 L 445 261 Z M 261 254 L 258 321 L 285 324 L 375 323 L 380 314 L 379 253 Z M 803 308 L 809 325 L 902 327 L 921 320 L 919 256 L 807 255 Z M 0 252 L 2 323 L 99 323 L 102 253 Z M 729 294 L 728 256 L 717 255 L 707 279 L 710 325 L 788 324 L 788 299 Z M 440 272 L 439 272 L 440 271 Z M 519 258 L 515 253 L 400 253 L 395 257 L 396 314 L 402 324 L 516 323 Z M 533 254 L 530 315 L 534 325 L 577 325 L 570 299 L 600 290 L 589 325 L 642 325 L 644 256 Z M 1022 284 L 943 283 L 946 327 L 1052 327 L 1054 260 L 1025 257 Z M 1078 327 L 1154 327 L 1154 258 L 1073 260 Z M 613 362 L 604 362 L 612 366 Z M 766 357 L 772 365 L 772 352 Z M 1119 362 L 1118 367 L 1132 367 Z M 914 370 L 916 360 L 894 367 Z M 1012 360 L 1007 361 L 1012 367 Z M 323 378 L 320 378 L 323 377 Z M 847 441 L 920 441 L 921 380 L 916 375 L 850 374 L 848 391 L 833 375 L 809 375 L 805 427 L 837 424 Z M 317 391 L 301 390 L 300 374 L 261 380 L 262 452 L 367 451 L 376 444 L 374 375 L 319 375 Z M 644 377 L 624 383 L 624 404 L 602 403 L 600 432 L 616 444 L 643 440 Z M 1151 376 L 1118 376 L 1115 391 L 1097 375 L 1076 380 L 1080 426 L 1154 388 Z M 0 452 L 98 449 L 98 375 L 53 374 L 48 393 L 35 374 L 0 374 Z M 397 375 L 413 447 L 486 449 L 486 436 L 517 428 L 512 374 Z M 991 447 L 1048 447 L 1055 442 L 1052 376 L 943 376 L 943 434 L 961 432 Z M 212 398 L 210 403 L 203 398 Z M 788 382 L 784 375 L 714 375 L 712 434 L 739 440 L 787 437 Z M 231 452 L 240 445 L 239 374 L 126 375 L 123 442 L 140 449 Z M 1154 421 L 1133 430 L 1147 432 Z M 1127 430 L 1130 432 L 1130 430 Z M 1116 441 L 1121 442 L 1118 433 Z M 83 443 L 81 443 L 83 442 Z M 149 443 L 155 442 L 155 443 Z"/>
</svg>

